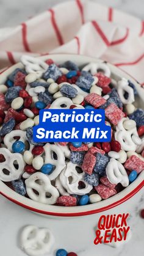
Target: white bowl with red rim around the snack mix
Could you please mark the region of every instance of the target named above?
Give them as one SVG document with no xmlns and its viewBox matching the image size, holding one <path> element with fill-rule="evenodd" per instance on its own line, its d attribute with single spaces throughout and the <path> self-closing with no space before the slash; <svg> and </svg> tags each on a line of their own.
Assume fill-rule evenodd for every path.
<svg viewBox="0 0 144 256">
<path fill-rule="evenodd" d="M 76 62 L 77 65 L 82 66 L 89 62 L 103 62 L 103 60 L 94 59 L 92 57 L 87 56 L 79 56 L 73 54 L 54 54 L 54 55 L 47 55 L 40 57 L 43 60 L 46 59 L 53 59 L 57 64 L 62 64 L 66 60 L 72 60 Z M 140 86 L 139 82 L 136 82 L 134 78 L 131 78 L 128 74 L 124 73 L 124 71 L 120 70 L 119 68 L 113 66 L 112 64 L 109 65 L 110 70 L 112 71 L 112 78 L 117 80 L 120 78 L 126 78 L 131 80 L 134 83 L 137 92 L 139 93 L 139 97 L 135 99 L 135 106 L 139 108 L 143 108 L 144 103 L 144 90 Z M 0 84 L 4 84 L 7 77 L 10 73 L 12 73 L 15 68 L 23 68 L 23 65 L 18 63 L 13 65 L 4 73 L 0 75 Z M 90 205 L 84 206 L 77 206 L 77 207 L 58 207 L 55 205 L 45 205 L 43 203 L 35 202 L 34 200 L 27 199 L 26 197 L 21 196 L 20 194 L 16 193 L 12 189 L 10 189 L 4 182 L 0 181 L 0 193 L 2 196 L 5 196 L 7 199 L 11 200 L 12 202 L 20 205 L 21 207 L 27 208 L 35 213 L 45 214 L 45 216 L 84 216 L 88 214 L 100 213 L 106 210 L 109 210 L 121 203 L 125 202 L 126 200 L 130 199 L 134 196 L 140 189 L 144 186 L 144 170 L 141 172 L 139 177 L 131 183 L 127 188 L 123 191 L 119 192 L 115 196 L 110 197 L 109 199 L 103 200 L 98 203 L 92 203 Z M 126 209 L 124 209 L 126 210 Z"/>
</svg>

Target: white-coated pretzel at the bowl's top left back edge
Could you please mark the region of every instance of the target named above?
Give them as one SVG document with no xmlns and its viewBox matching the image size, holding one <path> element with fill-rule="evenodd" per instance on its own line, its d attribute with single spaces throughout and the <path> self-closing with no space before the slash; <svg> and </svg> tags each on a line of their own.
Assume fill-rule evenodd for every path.
<svg viewBox="0 0 144 256">
<path fill-rule="evenodd" d="M 46 64 L 43 60 L 28 55 L 21 56 L 21 62 L 25 66 L 27 73 L 35 73 L 37 71 L 45 72 L 49 67 L 49 65 Z M 40 73 L 39 75 L 41 76 Z"/>
</svg>

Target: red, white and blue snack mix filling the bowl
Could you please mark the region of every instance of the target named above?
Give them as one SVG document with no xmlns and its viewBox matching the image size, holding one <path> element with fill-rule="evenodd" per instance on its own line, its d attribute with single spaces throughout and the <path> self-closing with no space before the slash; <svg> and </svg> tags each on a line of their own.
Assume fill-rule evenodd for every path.
<svg viewBox="0 0 144 256">
<path fill-rule="evenodd" d="M 134 106 L 134 84 L 113 80 L 102 62 L 78 67 L 22 56 L 21 63 L 0 85 L 0 180 L 21 196 L 63 207 L 129 186 L 144 170 L 144 110 Z M 111 142 L 34 142 L 40 109 L 54 108 L 105 109 Z"/>
</svg>

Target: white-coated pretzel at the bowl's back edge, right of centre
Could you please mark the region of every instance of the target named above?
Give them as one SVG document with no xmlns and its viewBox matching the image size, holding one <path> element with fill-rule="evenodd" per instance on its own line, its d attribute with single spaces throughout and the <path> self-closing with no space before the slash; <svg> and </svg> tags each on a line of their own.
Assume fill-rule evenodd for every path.
<svg viewBox="0 0 144 256">
<path fill-rule="evenodd" d="M 110 68 L 105 63 L 94 63 L 91 62 L 88 65 L 86 65 L 84 68 L 82 68 L 84 71 L 90 71 L 92 75 L 95 75 L 98 73 L 99 70 L 103 70 L 103 73 L 105 76 L 110 77 Z"/>
</svg>

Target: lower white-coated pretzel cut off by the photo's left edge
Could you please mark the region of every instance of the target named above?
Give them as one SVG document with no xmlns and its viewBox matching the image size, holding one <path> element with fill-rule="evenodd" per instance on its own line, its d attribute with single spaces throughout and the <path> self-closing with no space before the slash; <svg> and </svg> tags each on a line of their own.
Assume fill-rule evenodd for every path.
<svg viewBox="0 0 144 256">
<path fill-rule="evenodd" d="M 5 161 L 0 164 L 0 180 L 7 182 L 21 178 L 25 166 L 23 156 L 20 153 L 11 153 L 7 148 L 0 148 L 0 154 L 5 158 Z M 18 164 L 18 168 L 14 163 Z M 8 174 L 5 174 L 4 169 Z"/>
</svg>

